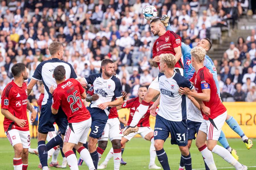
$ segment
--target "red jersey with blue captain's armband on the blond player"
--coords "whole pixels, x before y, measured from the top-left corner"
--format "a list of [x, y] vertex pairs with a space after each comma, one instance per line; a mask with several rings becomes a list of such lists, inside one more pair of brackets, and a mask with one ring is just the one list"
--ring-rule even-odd
[[194, 82], [195, 90], [197, 93], [203, 93], [203, 89], [210, 89], [210, 101], [203, 101], [205, 106], [210, 108], [210, 116], [204, 114], [201, 110], [203, 118], [209, 120], [209, 118], [214, 119], [220, 114], [227, 111], [226, 107], [221, 103], [218, 91], [216, 88], [213, 75], [206, 67], [199, 69], [199, 71], [194, 73], [193, 77], [190, 79], [191, 82]]

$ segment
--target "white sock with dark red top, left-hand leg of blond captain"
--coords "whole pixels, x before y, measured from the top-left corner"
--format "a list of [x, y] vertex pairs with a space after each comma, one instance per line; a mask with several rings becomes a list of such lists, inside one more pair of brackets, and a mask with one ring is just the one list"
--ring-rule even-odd
[[204, 145], [201, 148], [198, 148], [198, 150], [201, 152], [208, 168], [210, 170], [217, 170], [216, 165], [213, 160], [212, 152], [210, 150], [208, 150], [207, 145]]

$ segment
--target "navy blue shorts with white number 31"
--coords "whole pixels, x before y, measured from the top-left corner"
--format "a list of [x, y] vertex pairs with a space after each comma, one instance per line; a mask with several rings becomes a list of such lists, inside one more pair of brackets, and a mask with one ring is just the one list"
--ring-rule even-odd
[[186, 146], [187, 145], [187, 122], [174, 122], [156, 115], [154, 129], [154, 140], [166, 140], [171, 133], [171, 144]]

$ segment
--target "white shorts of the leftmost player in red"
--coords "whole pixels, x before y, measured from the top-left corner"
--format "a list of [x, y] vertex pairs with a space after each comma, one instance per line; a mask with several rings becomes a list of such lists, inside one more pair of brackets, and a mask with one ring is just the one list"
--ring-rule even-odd
[[11, 129], [5, 132], [9, 142], [12, 146], [17, 143], [21, 143], [23, 148], [30, 148], [30, 132], [29, 131], [21, 131], [17, 129]]

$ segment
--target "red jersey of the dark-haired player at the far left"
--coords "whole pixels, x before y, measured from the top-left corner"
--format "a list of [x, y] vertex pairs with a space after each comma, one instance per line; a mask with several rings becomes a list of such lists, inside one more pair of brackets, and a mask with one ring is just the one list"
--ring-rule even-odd
[[23, 82], [22, 87], [17, 86], [15, 82], [11, 81], [3, 90], [1, 97], [1, 109], [7, 109], [12, 115], [18, 119], [24, 119], [26, 125], [21, 128], [14, 121], [5, 117], [3, 125], [4, 130], [17, 129], [21, 131], [28, 131], [28, 116], [27, 116], [27, 85]]

